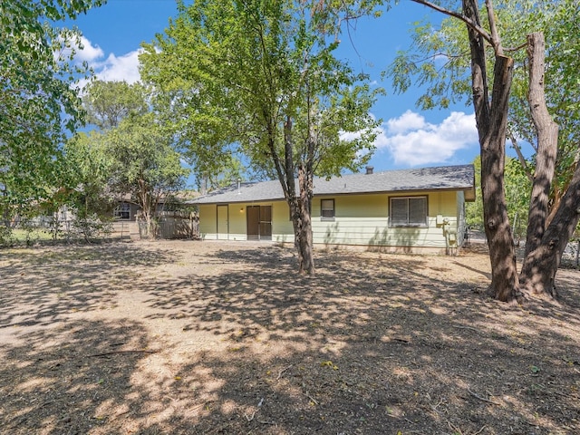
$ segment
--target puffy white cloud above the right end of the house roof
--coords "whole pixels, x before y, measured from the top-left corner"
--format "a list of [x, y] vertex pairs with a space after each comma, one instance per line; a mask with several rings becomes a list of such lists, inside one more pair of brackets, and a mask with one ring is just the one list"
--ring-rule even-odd
[[440, 124], [419, 113], [404, 112], [391, 119], [377, 137], [377, 150], [388, 150], [396, 164], [419, 166], [442, 163], [478, 142], [475, 116], [453, 111]]

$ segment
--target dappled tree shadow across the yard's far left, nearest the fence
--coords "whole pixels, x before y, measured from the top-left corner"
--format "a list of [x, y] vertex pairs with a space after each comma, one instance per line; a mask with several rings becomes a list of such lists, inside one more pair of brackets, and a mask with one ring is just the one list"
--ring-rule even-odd
[[168, 251], [124, 243], [0, 251], [0, 330], [53, 325], [71, 313], [106, 309], [134, 269], [172, 261]]

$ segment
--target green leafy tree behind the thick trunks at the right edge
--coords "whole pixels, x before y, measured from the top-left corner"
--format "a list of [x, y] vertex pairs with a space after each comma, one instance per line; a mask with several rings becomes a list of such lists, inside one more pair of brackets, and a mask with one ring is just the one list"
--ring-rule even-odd
[[[577, 86], [576, 77], [580, 64], [575, 53], [580, 49], [580, 38], [575, 37], [575, 29], [580, 25], [580, 5], [571, 0], [560, 0], [556, 4], [554, 2], [540, 4], [527, 2], [524, 5], [526, 5], [526, 14], [521, 13], [521, 5], [519, 7], [512, 3], [502, 5], [500, 19], [504, 23], [503, 27], [509, 29], [507, 44], [515, 45], [516, 37], [518, 41], [522, 41], [526, 34], [531, 34], [537, 29], [541, 29], [546, 36], [547, 67], [544, 89], [550, 115], [559, 126], [555, 176], [548, 200], [547, 223], [549, 223], [568, 189], [579, 157], [580, 111], [578, 111], [577, 102], [580, 99], [580, 89]], [[516, 32], [517, 36], [514, 35], [514, 29], [521, 29]], [[517, 64], [524, 68], [518, 68], [515, 71], [515, 86], [509, 112], [510, 140], [520, 156], [527, 177], [533, 179], [538, 148], [536, 127], [531, 120], [527, 98], [527, 70], [530, 65], [524, 50], [516, 53], [516, 56]], [[562, 89], [566, 90], [564, 95]], [[523, 146], [528, 146], [532, 150], [534, 154], [532, 164], [527, 164], [523, 160]]]

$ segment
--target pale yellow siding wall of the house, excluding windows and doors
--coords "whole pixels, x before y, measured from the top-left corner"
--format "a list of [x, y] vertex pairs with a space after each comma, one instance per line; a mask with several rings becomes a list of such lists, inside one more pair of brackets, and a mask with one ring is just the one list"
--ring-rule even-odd
[[[428, 226], [390, 227], [389, 199], [410, 196], [427, 197]], [[321, 199], [334, 200], [334, 218], [321, 217]], [[228, 240], [247, 240], [246, 208], [250, 205], [272, 206], [272, 240], [294, 243], [294, 228], [285, 201], [228, 205]], [[460, 223], [461, 210], [463, 194], [455, 191], [315, 197], [312, 204], [314, 244], [324, 247], [376, 247], [403, 252], [430, 248], [445, 252], [448, 248], [448, 228], [457, 231], [455, 243], [460, 246], [462, 238], [459, 239], [459, 230], [463, 228]], [[218, 239], [217, 227], [217, 206], [199, 206], [200, 236], [209, 240]]]

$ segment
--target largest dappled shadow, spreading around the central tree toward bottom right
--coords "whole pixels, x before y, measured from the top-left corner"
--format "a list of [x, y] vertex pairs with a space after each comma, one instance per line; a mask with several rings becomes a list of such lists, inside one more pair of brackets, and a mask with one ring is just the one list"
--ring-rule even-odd
[[[580, 328], [575, 303], [508, 307], [484, 295], [485, 280], [455, 281], [445, 265], [440, 279], [426, 279], [420, 256], [324, 253], [315, 277], [294, 275], [293, 256], [278, 248], [216, 256], [253, 267], [190, 276], [158, 286], [147, 300], [152, 318], [177, 316], [192, 336], [227, 337], [223, 349], [205, 352], [186, 372], [211, 370], [224, 383], [217, 402], [229, 402], [237, 420], [224, 421], [216, 405], [199, 433], [219, 421], [227, 430], [260, 433], [577, 427], [572, 360], [580, 349], [546, 322], [560, 317]], [[285, 367], [285, 387], [276, 387], [269, 381]], [[280, 391], [294, 392], [281, 400]], [[256, 408], [264, 397], [278, 403], [275, 411]], [[240, 410], [246, 420], [254, 411], [262, 419], [239, 426], [246, 424]]]

